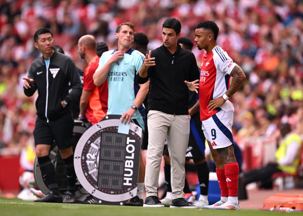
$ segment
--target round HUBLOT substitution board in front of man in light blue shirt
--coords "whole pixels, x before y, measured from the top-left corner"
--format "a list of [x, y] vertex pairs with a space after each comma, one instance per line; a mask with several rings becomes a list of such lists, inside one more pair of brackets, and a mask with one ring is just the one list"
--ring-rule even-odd
[[75, 149], [78, 180], [102, 205], [124, 205], [137, 195], [143, 130], [131, 122], [126, 133], [118, 133], [120, 118], [106, 115], [85, 131]]

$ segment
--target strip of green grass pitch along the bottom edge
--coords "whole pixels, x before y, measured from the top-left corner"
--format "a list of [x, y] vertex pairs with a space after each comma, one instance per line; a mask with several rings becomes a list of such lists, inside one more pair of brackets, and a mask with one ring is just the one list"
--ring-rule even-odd
[[[241, 207], [241, 204], [240, 204]], [[35, 203], [20, 199], [7, 199], [0, 197], [1, 216], [255, 216], [255, 215], [281, 215], [284, 212], [260, 211], [257, 209], [241, 209], [240, 211], [184, 209], [184, 208], [143, 208], [115, 205], [83, 205], [59, 203]], [[290, 214], [303, 215], [300, 212]]]

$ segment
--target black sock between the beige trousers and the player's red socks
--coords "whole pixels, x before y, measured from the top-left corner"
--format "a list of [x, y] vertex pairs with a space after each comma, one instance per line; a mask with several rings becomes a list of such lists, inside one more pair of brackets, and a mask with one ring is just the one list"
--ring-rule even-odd
[[209, 168], [207, 162], [196, 165], [197, 174], [200, 183], [200, 194], [208, 195], [208, 185], [209, 185]]

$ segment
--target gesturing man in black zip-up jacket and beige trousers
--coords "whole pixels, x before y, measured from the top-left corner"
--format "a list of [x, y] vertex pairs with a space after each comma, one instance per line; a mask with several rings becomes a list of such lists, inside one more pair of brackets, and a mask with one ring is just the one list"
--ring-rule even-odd
[[[185, 154], [188, 146], [188, 87], [196, 91], [199, 79], [193, 53], [181, 48], [178, 38], [181, 23], [168, 18], [162, 24], [163, 45], [149, 50], [140, 68], [137, 81], [150, 80], [148, 95], [148, 149], [145, 172], [144, 207], [163, 207], [158, 200], [158, 179], [165, 139], [171, 159], [171, 208], [197, 208], [184, 199]], [[189, 81], [185, 84], [185, 81]]]

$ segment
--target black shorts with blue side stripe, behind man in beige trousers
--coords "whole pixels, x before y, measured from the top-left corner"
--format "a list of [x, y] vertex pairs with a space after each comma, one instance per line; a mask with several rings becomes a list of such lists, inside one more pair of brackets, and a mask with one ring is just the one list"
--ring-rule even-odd
[[[205, 159], [205, 136], [202, 131], [202, 122], [199, 114], [195, 114], [190, 120], [190, 132], [188, 139], [188, 147], [185, 155], [186, 160]], [[169, 156], [167, 145], [164, 146], [163, 155]]]

